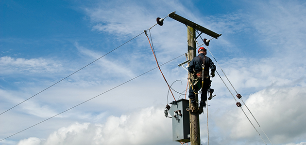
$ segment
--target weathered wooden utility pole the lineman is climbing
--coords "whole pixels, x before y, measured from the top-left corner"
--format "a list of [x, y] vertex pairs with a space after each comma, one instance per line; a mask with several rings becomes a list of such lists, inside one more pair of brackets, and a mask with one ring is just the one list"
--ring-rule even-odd
[[[187, 26], [187, 38], [188, 38], [188, 58], [191, 61], [194, 57], [197, 56], [196, 43], [194, 41], [195, 29]], [[188, 74], [188, 78], [191, 78], [191, 74]], [[190, 85], [189, 85], [190, 87]], [[191, 88], [189, 88], [191, 89]], [[199, 101], [198, 95], [195, 96], [196, 102]], [[198, 105], [198, 103], [196, 103]], [[191, 106], [191, 102], [189, 100], [189, 106]], [[190, 143], [191, 145], [200, 145], [200, 120], [199, 114], [197, 112], [189, 112], [190, 114]]]

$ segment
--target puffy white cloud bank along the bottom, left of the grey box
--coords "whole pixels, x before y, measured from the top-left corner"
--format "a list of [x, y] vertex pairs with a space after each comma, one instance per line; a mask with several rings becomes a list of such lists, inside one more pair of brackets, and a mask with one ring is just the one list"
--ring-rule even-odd
[[130, 115], [109, 116], [103, 124], [73, 123], [54, 131], [47, 139], [30, 137], [17, 145], [167, 144], [171, 142], [170, 124], [171, 119], [165, 118], [163, 108], [149, 107]]

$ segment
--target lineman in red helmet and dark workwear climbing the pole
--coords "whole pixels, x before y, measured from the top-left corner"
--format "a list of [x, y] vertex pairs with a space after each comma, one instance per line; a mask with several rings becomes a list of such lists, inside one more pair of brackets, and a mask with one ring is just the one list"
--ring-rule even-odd
[[[215, 76], [216, 66], [212, 60], [206, 57], [207, 51], [204, 47], [200, 47], [198, 50], [198, 57], [193, 58], [190, 61], [188, 72], [192, 74], [189, 88], [188, 98], [190, 99], [191, 106], [187, 107], [189, 112], [198, 112], [198, 114], [203, 113], [203, 107], [206, 106], [207, 92], [210, 87], [210, 75], [211, 77]], [[211, 73], [209, 75], [209, 68]], [[198, 102], [196, 102], [195, 94], [198, 94], [198, 91], [201, 90], [201, 101], [200, 106], [198, 107]]]

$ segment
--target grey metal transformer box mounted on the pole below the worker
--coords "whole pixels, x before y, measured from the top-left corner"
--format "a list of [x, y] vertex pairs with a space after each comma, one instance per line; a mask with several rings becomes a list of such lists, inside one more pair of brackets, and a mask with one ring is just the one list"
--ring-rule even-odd
[[169, 114], [172, 116], [172, 138], [173, 141], [190, 142], [189, 112], [186, 108], [189, 101], [181, 99], [171, 103]]

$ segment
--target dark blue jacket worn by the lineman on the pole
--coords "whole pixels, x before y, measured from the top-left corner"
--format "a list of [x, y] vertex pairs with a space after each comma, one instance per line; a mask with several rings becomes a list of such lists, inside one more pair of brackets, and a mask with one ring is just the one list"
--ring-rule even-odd
[[[202, 57], [201, 58], [199, 57]], [[204, 56], [203, 53], [200, 53], [197, 57], [194, 57], [189, 64], [188, 67], [188, 72], [189, 73], [199, 73], [202, 72], [202, 64], [203, 64], [203, 58], [205, 57], [205, 66], [204, 66], [204, 71], [209, 71], [209, 68], [211, 69], [211, 72], [216, 71], [216, 66], [212, 60], [206, 56]]]

